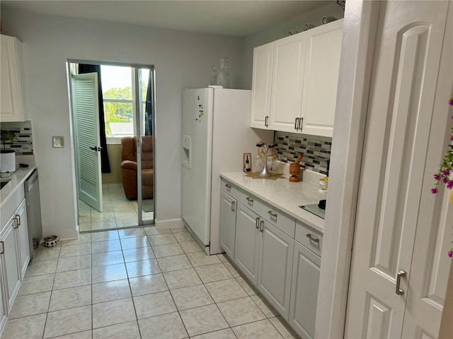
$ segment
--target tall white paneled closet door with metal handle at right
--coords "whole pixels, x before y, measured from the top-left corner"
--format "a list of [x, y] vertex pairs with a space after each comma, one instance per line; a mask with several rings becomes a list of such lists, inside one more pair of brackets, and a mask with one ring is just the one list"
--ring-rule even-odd
[[[441, 266], [435, 256], [446, 255], [441, 253], [440, 243], [447, 227], [442, 225], [445, 218], [441, 220], [437, 213], [447, 201], [440, 196], [435, 201], [430, 187], [434, 184], [433, 169], [445, 152], [442, 148], [449, 129], [451, 78], [442, 83], [443, 88], [449, 88], [440, 89], [445, 96], [443, 104], [435, 105], [442, 100], [435, 91], [442, 88], [437, 77], [445, 71], [439, 68], [447, 6], [447, 1], [381, 4], [357, 201], [346, 338], [406, 336], [403, 321], [414, 316], [409, 300], [418, 299], [414, 304], [420, 304], [423, 298], [431, 305], [425, 308], [424, 319], [414, 319], [417, 334], [408, 337], [437, 335], [437, 315], [445, 295], [441, 286], [448, 273], [447, 269], [437, 270]], [[451, 60], [445, 62], [451, 64]], [[451, 227], [451, 222], [447, 224]], [[415, 252], [419, 253], [413, 257], [415, 234], [420, 232], [427, 235], [423, 240], [427, 246], [417, 246]], [[413, 260], [416, 257], [423, 260]], [[413, 288], [416, 280], [423, 281], [421, 290]]]

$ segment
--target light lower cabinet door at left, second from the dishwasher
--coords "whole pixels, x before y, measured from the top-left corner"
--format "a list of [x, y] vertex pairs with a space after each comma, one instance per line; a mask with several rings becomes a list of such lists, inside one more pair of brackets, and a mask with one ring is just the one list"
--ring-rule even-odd
[[4, 282], [6, 304], [8, 311], [13, 306], [14, 299], [21, 285], [20, 263], [18, 261], [18, 251], [16, 242], [16, 232], [14, 232], [14, 225], [16, 219], [11, 218], [6, 224], [0, 239], [0, 249], [4, 251], [1, 254], [1, 264], [4, 269]]

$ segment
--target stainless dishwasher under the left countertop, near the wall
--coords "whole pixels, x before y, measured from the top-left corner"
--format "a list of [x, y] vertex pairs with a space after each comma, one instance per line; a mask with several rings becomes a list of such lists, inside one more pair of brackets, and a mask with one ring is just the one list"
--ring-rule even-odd
[[38, 169], [35, 169], [25, 181], [25, 201], [27, 204], [28, 238], [30, 239], [31, 261], [31, 259], [33, 259], [33, 248], [38, 248], [42, 236]]

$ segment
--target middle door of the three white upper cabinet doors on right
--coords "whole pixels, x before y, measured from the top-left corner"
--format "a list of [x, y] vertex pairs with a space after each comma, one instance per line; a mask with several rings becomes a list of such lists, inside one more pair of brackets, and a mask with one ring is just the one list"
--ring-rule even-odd
[[[302, 108], [305, 34], [296, 34], [274, 42], [270, 129], [297, 132]], [[301, 121], [302, 122], [302, 121]]]

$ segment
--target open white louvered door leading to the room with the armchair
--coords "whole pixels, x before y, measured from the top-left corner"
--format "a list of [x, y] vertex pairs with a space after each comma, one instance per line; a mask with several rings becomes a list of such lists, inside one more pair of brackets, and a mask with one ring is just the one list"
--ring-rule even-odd
[[79, 198], [102, 212], [97, 73], [71, 75]]

